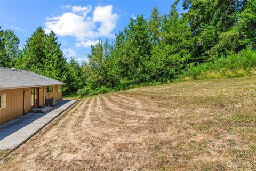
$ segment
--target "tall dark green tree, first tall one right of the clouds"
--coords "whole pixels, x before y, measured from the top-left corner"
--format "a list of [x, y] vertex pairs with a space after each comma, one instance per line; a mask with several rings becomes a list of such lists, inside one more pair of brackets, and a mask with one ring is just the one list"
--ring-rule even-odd
[[124, 56], [122, 61], [122, 77], [127, 82], [138, 84], [149, 81], [152, 40], [148, 23], [143, 15], [131, 19], [124, 30], [126, 35]]

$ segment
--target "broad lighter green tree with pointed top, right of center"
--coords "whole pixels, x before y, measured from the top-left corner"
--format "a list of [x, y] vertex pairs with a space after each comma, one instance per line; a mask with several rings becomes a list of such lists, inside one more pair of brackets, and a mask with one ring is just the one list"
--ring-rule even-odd
[[169, 80], [179, 74], [187, 64], [193, 62], [192, 34], [188, 20], [180, 17], [175, 5], [164, 15], [161, 28], [161, 42], [153, 48], [154, 77]]

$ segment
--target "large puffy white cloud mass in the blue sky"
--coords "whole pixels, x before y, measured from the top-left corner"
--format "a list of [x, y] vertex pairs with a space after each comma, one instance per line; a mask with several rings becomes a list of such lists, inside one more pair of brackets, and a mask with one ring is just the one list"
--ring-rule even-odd
[[[112, 33], [116, 27], [118, 15], [113, 13], [112, 5], [92, 7], [87, 6], [61, 6], [71, 12], [62, 15], [47, 17], [45, 31], [53, 30], [59, 36], [76, 37], [76, 47], [90, 47], [95, 45], [99, 37], [114, 37]], [[90, 14], [90, 15], [89, 15]]]

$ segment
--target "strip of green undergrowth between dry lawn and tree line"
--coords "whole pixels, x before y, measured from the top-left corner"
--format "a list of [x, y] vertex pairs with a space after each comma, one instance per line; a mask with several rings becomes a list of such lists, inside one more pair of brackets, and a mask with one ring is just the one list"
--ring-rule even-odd
[[222, 56], [210, 62], [199, 63], [196, 66], [187, 68], [182, 74], [177, 75], [174, 79], [161, 82], [145, 82], [141, 84], [130, 85], [119, 88], [107, 88], [101, 86], [97, 89], [84, 87], [79, 89], [78, 95], [73, 94], [65, 97], [84, 97], [97, 94], [121, 91], [124, 89], [132, 89], [143, 86], [161, 85], [171, 82], [180, 82], [184, 80], [202, 80], [216, 78], [235, 78], [256, 76], [256, 51], [251, 49], [242, 50], [234, 54], [230, 53], [227, 56]]

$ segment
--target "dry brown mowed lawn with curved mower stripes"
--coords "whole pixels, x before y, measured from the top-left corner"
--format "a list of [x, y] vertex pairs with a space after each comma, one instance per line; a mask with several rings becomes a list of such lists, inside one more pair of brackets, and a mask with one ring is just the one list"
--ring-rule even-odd
[[0, 170], [256, 170], [256, 78], [87, 97]]

